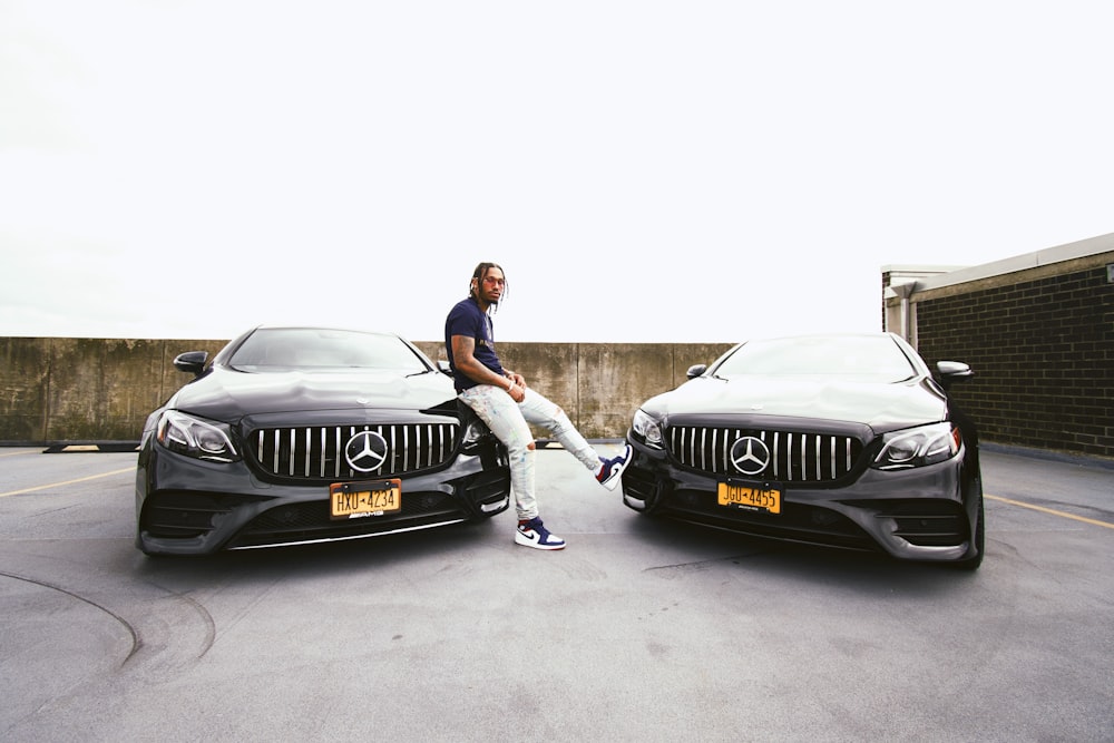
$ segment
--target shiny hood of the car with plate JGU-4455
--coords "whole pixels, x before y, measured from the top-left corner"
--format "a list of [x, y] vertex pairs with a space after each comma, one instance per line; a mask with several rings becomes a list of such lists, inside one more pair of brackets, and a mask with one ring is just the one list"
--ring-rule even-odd
[[842, 421], [869, 426], [876, 433], [882, 433], [944, 420], [947, 399], [929, 379], [881, 383], [701, 377], [653, 398], [643, 409], [666, 419], [739, 416]]

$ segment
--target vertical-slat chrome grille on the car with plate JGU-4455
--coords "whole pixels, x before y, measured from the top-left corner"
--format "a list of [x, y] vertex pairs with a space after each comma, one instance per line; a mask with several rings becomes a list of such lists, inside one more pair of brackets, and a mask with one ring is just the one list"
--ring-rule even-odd
[[761, 439], [771, 462], [761, 477], [784, 482], [830, 482], [854, 468], [862, 442], [854, 437], [739, 428], [675, 426], [670, 428], [670, 456], [682, 467], [709, 475], [740, 475], [731, 463], [731, 447], [743, 437]]

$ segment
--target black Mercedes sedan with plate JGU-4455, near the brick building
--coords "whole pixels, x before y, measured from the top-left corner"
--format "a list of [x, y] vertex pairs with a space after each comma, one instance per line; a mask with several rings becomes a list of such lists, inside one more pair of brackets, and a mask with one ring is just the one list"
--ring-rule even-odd
[[627, 433], [636, 511], [763, 538], [977, 568], [978, 433], [891, 333], [740, 343], [646, 401]]

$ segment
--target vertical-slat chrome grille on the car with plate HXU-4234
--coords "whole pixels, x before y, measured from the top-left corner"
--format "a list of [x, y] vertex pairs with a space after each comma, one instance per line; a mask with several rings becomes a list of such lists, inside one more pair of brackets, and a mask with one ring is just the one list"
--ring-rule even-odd
[[[333, 481], [399, 477], [449, 461], [457, 448], [458, 429], [455, 423], [258, 429], [250, 438], [251, 453], [264, 471], [283, 478]], [[344, 457], [344, 446], [360, 431], [375, 431], [388, 444], [387, 460], [371, 472], [352, 469]]]

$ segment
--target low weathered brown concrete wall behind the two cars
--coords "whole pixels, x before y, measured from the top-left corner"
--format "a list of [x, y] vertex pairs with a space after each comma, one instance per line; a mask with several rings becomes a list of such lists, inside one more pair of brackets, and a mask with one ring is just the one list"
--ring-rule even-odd
[[[147, 414], [189, 380], [174, 358], [185, 351], [212, 355], [226, 342], [0, 339], [0, 443], [137, 441]], [[441, 343], [416, 345], [433, 360], [444, 358]], [[639, 403], [729, 348], [504, 342], [499, 354], [563, 405], [587, 438], [617, 439]]]

